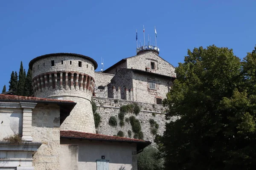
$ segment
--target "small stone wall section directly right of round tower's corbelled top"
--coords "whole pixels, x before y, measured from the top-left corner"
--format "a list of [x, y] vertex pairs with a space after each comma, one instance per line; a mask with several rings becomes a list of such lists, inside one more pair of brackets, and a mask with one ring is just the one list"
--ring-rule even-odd
[[95, 96], [108, 97], [108, 84], [111, 82], [111, 79], [113, 77], [114, 77], [113, 74], [95, 72], [95, 84], [94, 84]]

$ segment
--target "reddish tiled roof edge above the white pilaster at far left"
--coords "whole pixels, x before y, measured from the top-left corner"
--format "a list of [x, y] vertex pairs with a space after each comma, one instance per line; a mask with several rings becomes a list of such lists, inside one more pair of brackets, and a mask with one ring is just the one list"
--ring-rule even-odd
[[0, 100], [24, 100], [24, 101], [35, 101], [35, 102], [70, 102], [74, 103], [73, 101], [68, 100], [57, 100], [57, 99], [44, 99], [38, 97], [26, 97], [26, 96], [13, 96], [13, 95], [5, 95], [0, 94]]

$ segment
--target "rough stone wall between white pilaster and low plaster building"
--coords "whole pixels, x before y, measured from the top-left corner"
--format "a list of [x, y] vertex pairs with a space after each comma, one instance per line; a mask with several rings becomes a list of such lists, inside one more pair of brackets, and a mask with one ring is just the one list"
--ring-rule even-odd
[[60, 108], [38, 104], [32, 112], [33, 142], [42, 142], [33, 156], [35, 170], [59, 170]]

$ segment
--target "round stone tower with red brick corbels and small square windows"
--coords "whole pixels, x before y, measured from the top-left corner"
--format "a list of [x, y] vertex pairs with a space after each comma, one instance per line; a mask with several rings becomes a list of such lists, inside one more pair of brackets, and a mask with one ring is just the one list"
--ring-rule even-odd
[[96, 133], [91, 96], [97, 62], [71, 53], [46, 54], [29, 62], [36, 97], [76, 102], [61, 130]]

